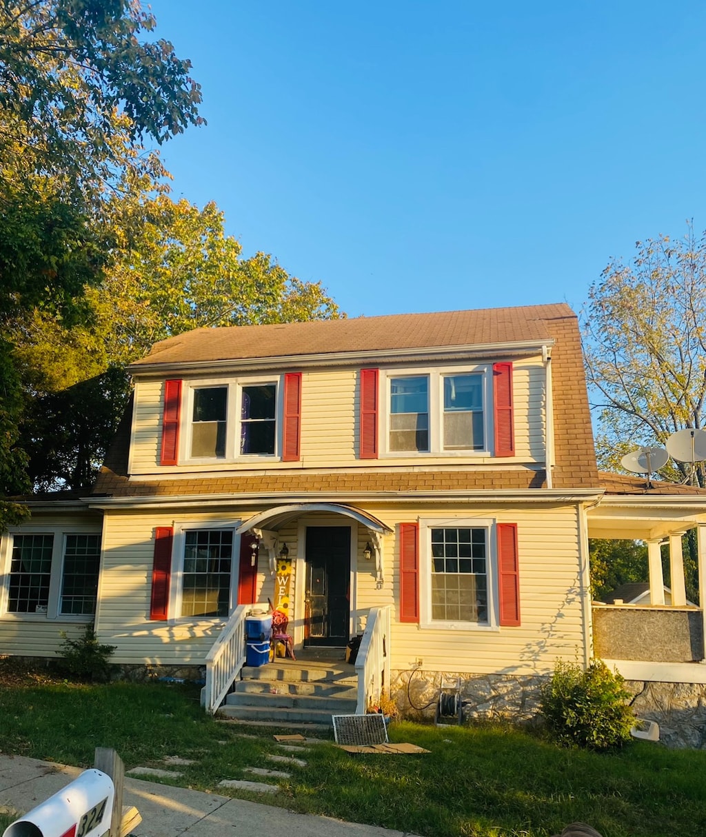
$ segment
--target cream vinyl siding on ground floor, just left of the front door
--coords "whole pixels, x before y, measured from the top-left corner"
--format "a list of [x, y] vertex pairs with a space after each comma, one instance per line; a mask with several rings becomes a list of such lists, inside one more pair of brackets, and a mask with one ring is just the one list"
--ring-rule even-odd
[[[203, 665], [211, 646], [218, 638], [225, 619], [152, 621], [149, 619], [152, 594], [154, 530], [157, 526], [188, 525], [190, 528], [229, 528], [250, 517], [252, 511], [233, 515], [180, 514], [154, 512], [106, 515], [104, 559], [100, 576], [96, 630], [103, 642], [116, 645], [111, 657], [115, 663], [162, 665]], [[233, 583], [237, 591], [240, 540], [233, 544]], [[263, 589], [271, 578], [265, 550], [260, 550], [258, 593], [267, 607]], [[174, 573], [171, 583], [174, 583]], [[234, 596], [237, 593], [234, 593]], [[170, 614], [171, 616], [171, 614]]]

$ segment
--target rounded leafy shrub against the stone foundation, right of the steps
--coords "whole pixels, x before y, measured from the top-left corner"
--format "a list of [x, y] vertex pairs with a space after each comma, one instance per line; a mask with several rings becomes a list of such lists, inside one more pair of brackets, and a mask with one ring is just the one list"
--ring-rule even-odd
[[563, 744], [592, 750], [621, 747], [630, 741], [635, 723], [623, 683], [601, 660], [593, 660], [585, 671], [559, 661], [540, 697], [549, 731]]

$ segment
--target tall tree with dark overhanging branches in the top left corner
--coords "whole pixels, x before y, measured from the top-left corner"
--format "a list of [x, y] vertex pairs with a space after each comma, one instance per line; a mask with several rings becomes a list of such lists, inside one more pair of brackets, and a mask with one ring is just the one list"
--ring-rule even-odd
[[[164, 172], [143, 141], [198, 124], [201, 94], [137, 0], [0, 0], [0, 497], [30, 483], [16, 352], [34, 313], [84, 321], [110, 198]], [[22, 516], [0, 500], [0, 530]]]

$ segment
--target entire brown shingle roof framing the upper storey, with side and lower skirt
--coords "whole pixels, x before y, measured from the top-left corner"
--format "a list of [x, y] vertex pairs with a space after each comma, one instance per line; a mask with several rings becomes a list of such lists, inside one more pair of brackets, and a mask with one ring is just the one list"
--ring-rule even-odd
[[[554, 339], [552, 381], [554, 390], [554, 487], [596, 488], [590, 411], [585, 387], [579, 326], [569, 306], [495, 308], [482, 311], [450, 311], [435, 314], [402, 314], [289, 323], [277, 326], [235, 326], [197, 329], [157, 343], [151, 354], [134, 364], [188, 363], [232, 360], [237, 357], [280, 357], [307, 353], [369, 351], [415, 347], [473, 346], [503, 342]], [[489, 357], [488, 360], [492, 360]], [[106, 468], [95, 485], [96, 493], [116, 496], [148, 496], [194, 493], [245, 493], [278, 490], [307, 491], [410, 491], [492, 488], [541, 488], [544, 472], [532, 471], [439, 471], [425, 473], [417, 465], [412, 473], [350, 473], [317, 475], [306, 470], [258, 477], [234, 472], [210, 478], [155, 479], [131, 483], [127, 478], [129, 422], [123, 424], [117, 444], [106, 458]], [[374, 467], [371, 462], [370, 465]]]

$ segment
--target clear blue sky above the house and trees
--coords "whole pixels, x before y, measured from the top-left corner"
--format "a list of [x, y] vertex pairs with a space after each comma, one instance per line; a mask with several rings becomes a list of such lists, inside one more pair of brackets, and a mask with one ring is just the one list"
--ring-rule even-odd
[[578, 309], [706, 226], [706, 3], [153, 0], [208, 126], [173, 194], [349, 316]]

